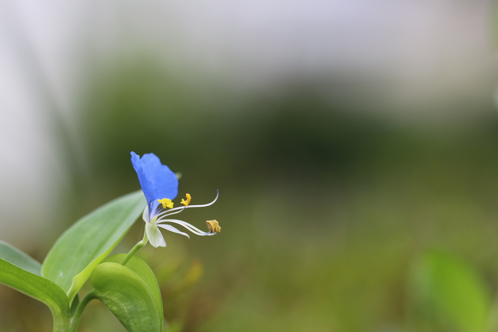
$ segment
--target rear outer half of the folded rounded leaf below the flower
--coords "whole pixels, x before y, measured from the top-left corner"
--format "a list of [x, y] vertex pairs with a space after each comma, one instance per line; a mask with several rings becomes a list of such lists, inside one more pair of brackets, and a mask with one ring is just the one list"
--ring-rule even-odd
[[[126, 256], [126, 254], [113, 255], [106, 258], [104, 262], [120, 263], [123, 260], [124, 256]], [[124, 264], [124, 266], [136, 273], [136, 275], [144, 282], [145, 286], [147, 286], [148, 290], [152, 294], [161, 321], [161, 327], [159, 331], [162, 331], [163, 309], [161, 290], [159, 289], [159, 284], [157, 283], [154, 273], [147, 265], [147, 263], [136, 256], [132, 256], [130, 260], [126, 264]]]

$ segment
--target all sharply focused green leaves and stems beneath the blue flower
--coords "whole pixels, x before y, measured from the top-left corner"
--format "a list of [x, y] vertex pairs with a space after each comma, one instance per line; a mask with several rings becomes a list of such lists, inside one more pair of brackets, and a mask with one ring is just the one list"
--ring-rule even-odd
[[[46, 304], [54, 316], [54, 331], [69, 331], [70, 325], [76, 329], [81, 312], [92, 298], [80, 304], [78, 290], [123, 238], [144, 205], [140, 190], [96, 209], [61, 235], [43, 265], [0, 242], [0, 282]], [[115, 255], [108, 262], [124, 256]], [[96, 296], [128, 331], [162, 330], [161, 294], [152, 271], [135, 257], [126, 266], [106, 263], [98, 268], [92, 277]]]

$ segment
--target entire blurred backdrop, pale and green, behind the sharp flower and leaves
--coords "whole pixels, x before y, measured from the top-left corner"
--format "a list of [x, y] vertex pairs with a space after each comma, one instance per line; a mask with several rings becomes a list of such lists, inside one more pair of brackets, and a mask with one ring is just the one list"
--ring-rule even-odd
[[[130, 151], [153, 152], [181, 195], [220, 190], [182, 215], [220, 234], [139, 252], [165, 331], [481, 331], [475, 303], [495, 317], [498, 285], [496, 5], [1, 0], [0, 240], [42, 261], [139, 188]], [[0, 285], [0, 331], [51, 324]], [[94, 301], [79, 331], [124, 328]]]

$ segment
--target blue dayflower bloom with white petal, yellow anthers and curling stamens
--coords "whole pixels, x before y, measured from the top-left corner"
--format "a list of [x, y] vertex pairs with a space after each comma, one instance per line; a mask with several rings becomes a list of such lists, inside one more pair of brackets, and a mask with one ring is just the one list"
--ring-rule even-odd
[[[176, 229], [168, 223], [181, 225], [197, 235], [214, 235], [220, 232], [221, 228], [216, 220], [206, 221], [209, 231], [203, 232], [188, 222], [177, 219], [165, 219], [172, 214], [182, 212], [185, 208], [209, 206], [216, 202], [219, 193], [216, 194], [216, 198], [211, 203], [202, 205], [189, 205], [192, 197], [189, 194], [186, 194], [187, 200], [182, 199], [181, 201], [184, 206], [173, 208], [172, 200], [175, 199], [178, 194], [178, 179], [176, 178], [175, 173], [173, 173], [168, 166], [162, 165], [159, 158], [154, 154], [145, 154], [140, 158], [140, 156], [132, 152], [131, 164], [133, 164], [133, 168], [138, 175], [138, 181], [140, 182], [143, 194], [145, 195], [145, 200], [147, 201], [147, 206], [143, 210], [142, 218], [143, 221], [145, 221], [147, 238], [152, 246], [166, 246], [166, 241], [164, 240], [159, 227], [190, 238], [187, 233]], [[169, 209], [166, 210], [166, 208]]]

